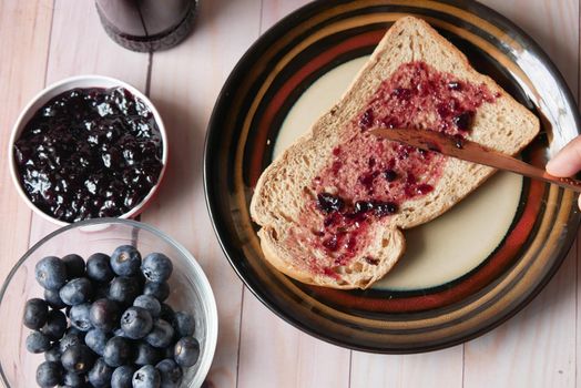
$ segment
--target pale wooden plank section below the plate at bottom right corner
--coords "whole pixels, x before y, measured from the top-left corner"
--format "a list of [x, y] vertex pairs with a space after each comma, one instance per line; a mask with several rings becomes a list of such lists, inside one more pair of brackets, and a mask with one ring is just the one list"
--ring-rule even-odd
[[467, 387], [575, 386], [575, 254], [521, 313], [465, 345]]

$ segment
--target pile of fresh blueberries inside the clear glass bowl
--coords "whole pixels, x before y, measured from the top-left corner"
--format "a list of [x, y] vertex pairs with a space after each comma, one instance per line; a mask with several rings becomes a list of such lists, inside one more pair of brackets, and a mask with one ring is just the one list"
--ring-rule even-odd
[[[44, 298], [29, 299], [27, 349], [44, 353], [41, 387], [180, 387], [200, 344], [191, 314], [164, 303], [173, 265], [131, 245], [111, 256], [48, 256], [35, 266]], [[64, 309], [65, 313], [62, 310]]]

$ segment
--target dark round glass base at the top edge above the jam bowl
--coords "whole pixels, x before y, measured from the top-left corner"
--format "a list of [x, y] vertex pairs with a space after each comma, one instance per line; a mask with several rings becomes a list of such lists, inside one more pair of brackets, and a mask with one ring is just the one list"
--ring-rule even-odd
[[170, 49], [194, 27], [196, 0], [95, 0], [108, 35], [125, 49]]

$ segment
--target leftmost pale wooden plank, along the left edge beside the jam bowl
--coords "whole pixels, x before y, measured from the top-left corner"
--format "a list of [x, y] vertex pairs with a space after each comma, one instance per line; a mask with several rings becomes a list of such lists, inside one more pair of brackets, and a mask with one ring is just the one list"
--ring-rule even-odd
[[[52, 1], [0, 1], [0, 279], [28, 248], [31, 212], [8, 169], [9, 137], [20, 111], [44, 85]], [[1, 344], [0, 344], [1, 346]]]

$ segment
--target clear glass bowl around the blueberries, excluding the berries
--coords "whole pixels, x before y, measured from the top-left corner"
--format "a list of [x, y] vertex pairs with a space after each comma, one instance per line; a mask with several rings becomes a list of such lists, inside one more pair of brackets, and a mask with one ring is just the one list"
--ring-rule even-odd
[[22, 325], [24, 303], [43, 296], [34, 278], [35, 264], [45, 256], [62, 257], [75, 253], [83, 258], [102, 252], [111, 254], [123, 244], [137, 247], [142, 256], [161, 252], [173, 262], [166, 303], [174, 310], [195, 317], [200, 359], [184, 370], [182, 387], [200, 387], [210, 369], [217, 339], [217, 310], [210, 283], [195, 258], [175, 241], [156, 228], [129, 219], [99, 218], [82, 221], [58, 229], [31, 247], [12, 268], [0, 290], [0, 378], [4, 386], [37, 387], [35, 370], [43, 354], [30, 354], [26, 338], [31, 331]]

